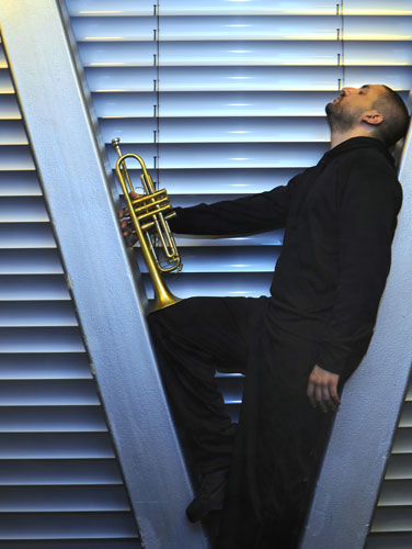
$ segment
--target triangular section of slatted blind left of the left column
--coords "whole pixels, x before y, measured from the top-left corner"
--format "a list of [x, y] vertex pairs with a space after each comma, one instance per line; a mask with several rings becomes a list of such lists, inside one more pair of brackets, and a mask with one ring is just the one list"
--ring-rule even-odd
[[0, 43], [0, 548], [138, 549]]

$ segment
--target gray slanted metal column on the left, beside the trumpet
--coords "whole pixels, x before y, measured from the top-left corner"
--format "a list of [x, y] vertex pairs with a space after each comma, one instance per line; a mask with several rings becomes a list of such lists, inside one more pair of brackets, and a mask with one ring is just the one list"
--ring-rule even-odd
[[201, 527], [185, 518], [192, 490], [67, 24], [57, 0], [0, 1], [28, 138], [145, 547], [206, 548]]

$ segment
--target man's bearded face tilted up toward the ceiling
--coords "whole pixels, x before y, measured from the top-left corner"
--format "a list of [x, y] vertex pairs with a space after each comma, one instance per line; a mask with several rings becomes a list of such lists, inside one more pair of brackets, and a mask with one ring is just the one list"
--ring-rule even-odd
[[327, 115], [333, 130], [347, 131], [360, 123], [365, 112], [374, 108], [384, 86], [367, 83], [362, 88], [343, 88], [341, 94], [327, 104]]

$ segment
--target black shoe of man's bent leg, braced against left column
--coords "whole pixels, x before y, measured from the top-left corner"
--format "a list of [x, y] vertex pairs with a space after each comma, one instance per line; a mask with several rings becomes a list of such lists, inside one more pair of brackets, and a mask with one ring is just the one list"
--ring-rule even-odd
[[227, 469], [203, 475], [199, 493], [186, 508], [191, 523], [202, 520], [210, 511], [219, 511], [224, 507], [227, 483]]

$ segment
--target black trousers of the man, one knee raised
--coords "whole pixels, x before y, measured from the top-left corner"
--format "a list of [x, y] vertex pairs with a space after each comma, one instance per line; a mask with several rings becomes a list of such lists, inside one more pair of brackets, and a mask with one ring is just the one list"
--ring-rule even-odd
[[[298, 547], [333, 421], [306, 391], [316, 341], [268, 298], [192, 298], [149, 315], [165, 391], [199, 472], [230, 466], [219, 549]], [[216, 370], [245, 373], [239, 426]]]

